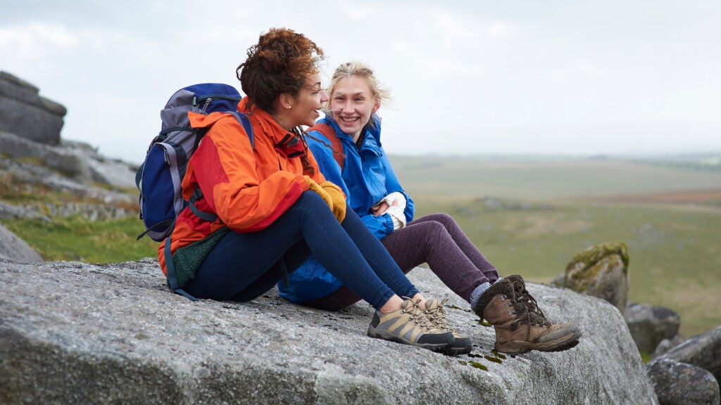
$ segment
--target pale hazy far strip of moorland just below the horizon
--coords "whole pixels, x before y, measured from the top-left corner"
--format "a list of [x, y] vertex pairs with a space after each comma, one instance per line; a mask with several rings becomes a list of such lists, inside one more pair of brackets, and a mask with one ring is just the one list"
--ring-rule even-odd
[[402, 184], [429, 198], [557, 200], [678, 190], [721, 190], [721, 172], [622, 160], [508, 161], [393, 156]]

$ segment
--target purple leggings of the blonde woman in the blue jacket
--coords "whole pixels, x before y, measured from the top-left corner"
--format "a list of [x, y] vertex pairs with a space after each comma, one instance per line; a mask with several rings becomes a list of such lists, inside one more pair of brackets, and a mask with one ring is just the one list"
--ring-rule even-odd
[[[473, 290], [484, 282], [493, 284], [498, 272], [476, 246], [469, 241], [456, 221], [446, 213], [426, 215], [381, 239], [388, 252], [404, 273], [423, 263], [466, 301]], [[305, 306], [340, 311], [361, 301], [361, 297], [342, 286]]]

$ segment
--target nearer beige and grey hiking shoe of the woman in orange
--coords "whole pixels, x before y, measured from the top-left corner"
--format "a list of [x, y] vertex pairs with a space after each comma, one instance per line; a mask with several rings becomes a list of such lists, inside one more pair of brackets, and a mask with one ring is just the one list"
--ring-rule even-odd
[[423, 310], [410, 298], [406, 298], [401, 308], [392, 313], [376, 311], [368, 336], [390, 340], [438, 352], [446, 350], [454, 342], [453, 334], [433, 328], [423, 315]]

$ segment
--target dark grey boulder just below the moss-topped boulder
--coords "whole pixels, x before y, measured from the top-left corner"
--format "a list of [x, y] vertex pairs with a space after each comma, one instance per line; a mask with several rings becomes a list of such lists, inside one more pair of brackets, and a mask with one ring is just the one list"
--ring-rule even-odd
[[646, 353], [655, 352], [663, 339], [676, 337], [681, 327], [681, 316], [662, 306], [629, 303], [624, 317], [638, 350]]

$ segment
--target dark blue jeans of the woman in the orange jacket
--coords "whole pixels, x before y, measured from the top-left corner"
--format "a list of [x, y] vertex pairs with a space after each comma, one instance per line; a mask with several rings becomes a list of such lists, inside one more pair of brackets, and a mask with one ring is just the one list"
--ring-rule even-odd
[[293, 272], [311, 254], [373, 308], [380, 309], [394, 294], [418, 293], [353, 210], [348, 208], [338, 223], [315, 192], [304, 192], [261, 231], [229, 232], [205, 257], [185, 290], [198, 298], [249, 301], [282, 280], [283, 267]]

